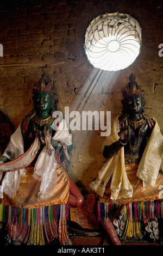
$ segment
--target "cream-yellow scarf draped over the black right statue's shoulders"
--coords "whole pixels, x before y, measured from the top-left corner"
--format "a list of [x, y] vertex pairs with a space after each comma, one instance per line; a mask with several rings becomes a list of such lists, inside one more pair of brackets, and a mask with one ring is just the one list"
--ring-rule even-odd
[[[154, 186], [161, 165], [163, 153], [163, 136], [160, 132], [158, 123], [155, 121], [152, 134], [149, 138], [145, 152], [143, 153], [137, 176], [143, 180], [143, 186]], [[118, 117], [114, 120], [111, 129], [112, 135], [109, 136], [109, 144], [118, 141], [118, 131], [120, 130]], [[111, 178], [110, 199], [128, 198], [133, 196], [133, 187], [128, 180], [124, 165], [124, 148], [112, 156], [98, 172], [98, 177], [90, 183], [90, 187], [99, 196], [103, 197], [106, 184]]]

